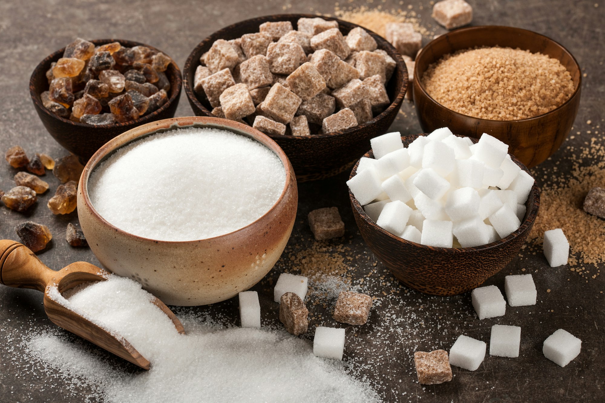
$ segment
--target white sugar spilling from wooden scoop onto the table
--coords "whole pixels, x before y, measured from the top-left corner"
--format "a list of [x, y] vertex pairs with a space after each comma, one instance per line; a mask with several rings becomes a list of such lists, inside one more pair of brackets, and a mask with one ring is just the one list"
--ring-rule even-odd
[[187, 334], [179, 335], [165, 315], [157, 317], [163, 313], [150, 298], [139, 283], [110, 276], [61, 301], [125, 335], [151, 361], [148, 372], [126, 374], [54, 335], [34, 336], [28, 349], [61, 373], [83, 379], [107, 402], [379, 400], [343, 363], [315, 357], [309, 341], [283, 329], [220, 329], [198, 322], [184, 323]]

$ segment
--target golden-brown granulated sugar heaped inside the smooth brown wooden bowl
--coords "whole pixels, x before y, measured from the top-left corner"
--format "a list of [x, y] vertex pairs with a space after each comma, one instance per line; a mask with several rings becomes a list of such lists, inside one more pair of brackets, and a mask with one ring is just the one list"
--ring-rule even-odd
[[422, 84], [447, 108], [490, 120], [538, 116], [575, 90], [571, 74], [557, 59], [502, 47], [446, 54], [428, 67]]

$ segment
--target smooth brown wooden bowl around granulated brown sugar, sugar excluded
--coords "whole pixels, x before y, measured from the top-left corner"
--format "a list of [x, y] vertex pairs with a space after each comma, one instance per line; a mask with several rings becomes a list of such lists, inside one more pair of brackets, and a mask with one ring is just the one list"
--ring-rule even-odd
[[[430, 64], [443, 55], [476, 46], [502, 46], [540, 52], [554, 57], [571, 74], [572, 96], [554, 110], [528, 119], [488, 120], [466, 116], [440, 105], [420, 83]], [[428, 133], [447, 126], [454, 133], [479, 138], [488, 133], [509, 145], [511, 154], [531, 168], [546, 160], [561, 146], [574, 124], [580, 105], [582, 74], [578, 62], [566, 48], [544, 35], [514, 27], [470, 27], [450, 31], [431, 41], [416, 58], [414, 103], [420, 126]]]

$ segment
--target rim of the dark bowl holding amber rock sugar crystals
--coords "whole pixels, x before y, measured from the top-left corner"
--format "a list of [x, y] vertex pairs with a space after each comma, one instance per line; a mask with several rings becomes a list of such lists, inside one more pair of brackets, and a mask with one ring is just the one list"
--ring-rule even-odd
[[[143, 44], [142, 42], [130, 41], [129, 39], [116, 39], [116, 38], [91, 39], [89, 42], [93, 42], [94, 45], [110, 44], [111, 42], [120, 42], [120, 44], [122, 44], [123, 42], [129, 42], [129, 44], [131, 44], [131, 47], [132, 46], [145, 46], [145, 47], [151, 48], [153, 50], [157, 50], [158, 52], [164, 53], [163, 51], [159, 50], [156, 47], [153, 47], [153, 46], [147, 45], [147, 44]], [[42, 100], [40, 99], [40, 94], [38, 94], [36, 91], [35, 82], [36, 82], [36, 79], [41, 74], [46, 73], [46, 71], [44, 71], [44, 67], [43, 67], [44, 64], [46, 64], [48, 61], [51, 61], [51, 62], [54, 61], [55, 59], [57, 59], [57, 57], [60, 59], [60, 57], [62, 57], [62, 54], [64, 53], [66, 47], [60, 48], [59, 50], [54, 51], [53, 53], [49, 54], [47, 57], [42, 59], [42, 61], [39, 62], [38, 65], [36, 65], [36, 68], [34, 68], [34, 70], [31, 72], [31, 76], [30, 76], [30, 96], [31, 96], [31, 99], [33, 100], [34, 104], [36, 106], [38, 106], [40, 110], [44, 111], [45, 114], [53, 117], [54, 119], [59, 120], [60, 122], [69, 123], [70, 125], [73, 125], [76, 127], [99, 128], [99, 129], [121, 128], [121, 127], [126, 128], [127, 126], [132, 125], [133, 123], [136, 125], [141, 125], [143, 123], [147, 123], [149, 120], [154, 119], [155, 117], [157, 117], [157, 115], [159, 115], [160, 113], [162, 113], [163, 111], [168, 109], [169, 105], [171, 105], [171, 103], [174, 102], [174, 100], [180, 96], [181, 87], [183, 86], [183, 74], [181, 73], [181, 70], [178, 67], [177, 62], [175, 62], [174, 59], [172, 59], [172, 57], [171, 57], [171, 59], [172, 59], [171, 65], [174, 66], [174, 69], [175, 69], [174, 75], [175, 75], [175, 81], [176, 81], [177, 85], [175, 85], [174, 87], [176, 87], [176, 89], [175, 89], [175, 91], [172, 91], [172, 96], [170, 96], [168, 98], [168, 100], [166, 100], [166, 103], [164, 103], [164, 105], [160, 106], [160, 108], [153, 111], [152, 113], [150, 113], [148, 115], [140, 116], [139, 119], [128, 120], [128, 122], [121, 122], [121, 123], [118, 123], [118, 122], [110, 123], [108, 125], [90, 125], [88, 123], [74, 122], [73, 120], [69, 120], [69, 119], [65, 119], [64, 117], [57, 116], [56, 114], [47, 110], [47, 108], [45, 108], [44, 105], [42, 105]], [[166, 54], [166, 53], [164, 53], [164, 54]], [[169, 56], [169, 55], [166, 54], [166, 56]], [[171, 90], [172, 90], [172, 88], [171, 88]]]

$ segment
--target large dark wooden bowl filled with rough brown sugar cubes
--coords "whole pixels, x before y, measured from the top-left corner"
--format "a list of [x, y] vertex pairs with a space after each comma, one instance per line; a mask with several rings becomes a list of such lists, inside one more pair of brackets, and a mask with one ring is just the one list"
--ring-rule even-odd
[[271, 15], [223, 28], [195, 47], [185, 93], [198, 116], [267, 134], [306, 181], [350, 169], [370, 138], [387, 131], [407, 77], [401, 55], [358, 25]]

